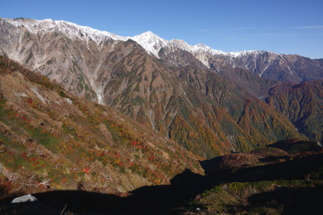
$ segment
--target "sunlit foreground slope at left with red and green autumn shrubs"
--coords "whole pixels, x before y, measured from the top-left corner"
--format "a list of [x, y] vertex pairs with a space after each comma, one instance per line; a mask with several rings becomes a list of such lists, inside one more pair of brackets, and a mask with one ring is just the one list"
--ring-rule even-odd
[[120, 193], [168, 184], [194, 156], [112, 108], [79, 99], [0, 57], [2, 197], [47, 190]]

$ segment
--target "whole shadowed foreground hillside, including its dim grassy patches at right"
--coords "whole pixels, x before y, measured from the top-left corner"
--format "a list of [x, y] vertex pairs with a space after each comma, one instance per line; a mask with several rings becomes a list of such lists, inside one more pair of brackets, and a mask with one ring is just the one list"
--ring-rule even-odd
[[[264, 155], [267, 149], [248, 154], [257, 159], [233, 154], [228, 156], [242, 157], [239, 161], [228, 156], [203, 161], [201, 165], [207, 175], [185, 170], [176, 175], [170, 185], [144, 186], [119, 195], [50, 191], [34, 194], [38, 198], [35, 203], [8, 205], [3, 201], [1, 209], [5, 212], [15, 209], [17, 213], [27, 209], [35, 214], [40, 211], [55, 214], [63, 208], [65, 212], [77, 214], [301, 214], [306, 211], [306, 205], [310, 204], [312, 207], [308, 211], [319, 214], [322, 211], [319, 193], [323, 184], [323, 154], [306, 148], [306, 142], [303, 144], [305, 151], [302, 153], [283, 151], [287, 161], [264, 162], [266, 159], [263, 158], [269, 156]], [[270, 156], [274, 157], [282, 153], [279, 149], [276, 153], [274, 150], [271, 152]], [[240, 167], [228, 171], [227, 167], [234, 167], [235, 162], [240, 163]], [[249, 162], [249, 166], [243, 162]], [[304, 178], [308, 174], [309, 178]], [[201, 211], [196, 211], [196, 207], [201, 208]]]

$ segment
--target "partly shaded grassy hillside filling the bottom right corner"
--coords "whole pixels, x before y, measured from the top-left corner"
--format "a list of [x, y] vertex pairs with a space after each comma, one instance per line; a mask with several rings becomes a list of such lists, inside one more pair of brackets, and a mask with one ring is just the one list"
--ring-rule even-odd
[[221, 157], [211, 165], [218, 184], [191, 200], [186, 213], [320, 214], [322, 152], [316, 142], [291, 139]]

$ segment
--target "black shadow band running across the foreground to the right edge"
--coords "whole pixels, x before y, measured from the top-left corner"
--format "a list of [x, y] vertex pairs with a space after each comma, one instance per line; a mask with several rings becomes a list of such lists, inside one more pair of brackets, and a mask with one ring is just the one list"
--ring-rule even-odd
[[[184, 206], [196, 194], [220, 183], [304, 179], [305, 174], [318, 169], [323, 164], [323, 154], [316, 154], [287, 162], [246, 168], [235, 173], [221, 174], [217, 167], [219, 159], [221, 158], [201, 162], [201, 166], [205, 169], [205, 176], [185, 170], [171, 180], [171, 185], [140, 187], [131, 191], [128, 197], [85, 191], [49, 191], [33, 194], [38, 199], [34, 204], [9, 205], [7, 210], [10, 212], [16, 210], [16, 214], [26, 213], [26, 211], [28, 214], [39, 214], [43, 211], [45, 214], [59, 214], [67, 205], [66, 211], [74, 214], [164, 214], [171, 208]], [[2, 202], [4, 203], [8, 205], [8, 202]], [[183, 211], [172, 210], [172, 212], [180, 214]]]

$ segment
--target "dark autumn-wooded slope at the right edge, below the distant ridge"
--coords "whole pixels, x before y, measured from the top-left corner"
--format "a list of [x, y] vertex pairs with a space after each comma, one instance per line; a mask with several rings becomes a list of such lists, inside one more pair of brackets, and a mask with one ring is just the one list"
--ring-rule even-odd
[[278, 85], [266, 102], [310, 139], [323, 141], [323, 81]]

